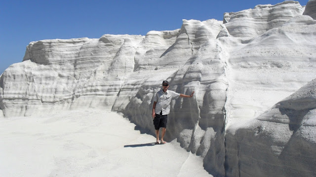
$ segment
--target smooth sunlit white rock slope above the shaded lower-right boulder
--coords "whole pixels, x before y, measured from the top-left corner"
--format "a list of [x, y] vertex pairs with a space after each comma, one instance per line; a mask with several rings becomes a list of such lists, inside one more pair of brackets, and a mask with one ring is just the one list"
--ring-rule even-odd
[[316, 21], [297, 16], [250, 41], [219, 38], [228, 45], [229, 119], [255, 118], [315, 79]]

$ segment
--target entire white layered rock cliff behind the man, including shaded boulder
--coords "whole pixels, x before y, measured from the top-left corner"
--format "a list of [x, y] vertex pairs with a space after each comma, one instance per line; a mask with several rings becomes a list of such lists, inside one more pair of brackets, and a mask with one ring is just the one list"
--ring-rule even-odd
[[315, 176], [315, 80], [300, 89], [316, 78], [314, 2], [257, 5], [146, 36], [31, 42], [0, 77], [0, 116], [99, 108], [154, 133], [153, 95], [169, 80], [196, 93], [171, 102], [166, 139], [202, 156], [210, 174]]

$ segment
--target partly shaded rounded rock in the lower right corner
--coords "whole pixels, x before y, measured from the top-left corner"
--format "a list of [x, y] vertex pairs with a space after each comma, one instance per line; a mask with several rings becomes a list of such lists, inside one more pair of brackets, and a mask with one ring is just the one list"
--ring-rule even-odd
[[258, 118], [227, 129], [226, 176], [314, 177], [315, 147], [316, 79]]

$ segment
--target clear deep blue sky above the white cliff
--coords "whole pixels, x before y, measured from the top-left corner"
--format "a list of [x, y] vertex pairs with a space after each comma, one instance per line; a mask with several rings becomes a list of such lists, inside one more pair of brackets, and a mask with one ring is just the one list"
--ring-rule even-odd
[[[100, 38], [179, 29], [182, 19], [223, 20], [257, 4], [283, 0], [0, 0], [0, 74], [43, 39]], [[300, 0], [306, 5], [308, 0]]]

